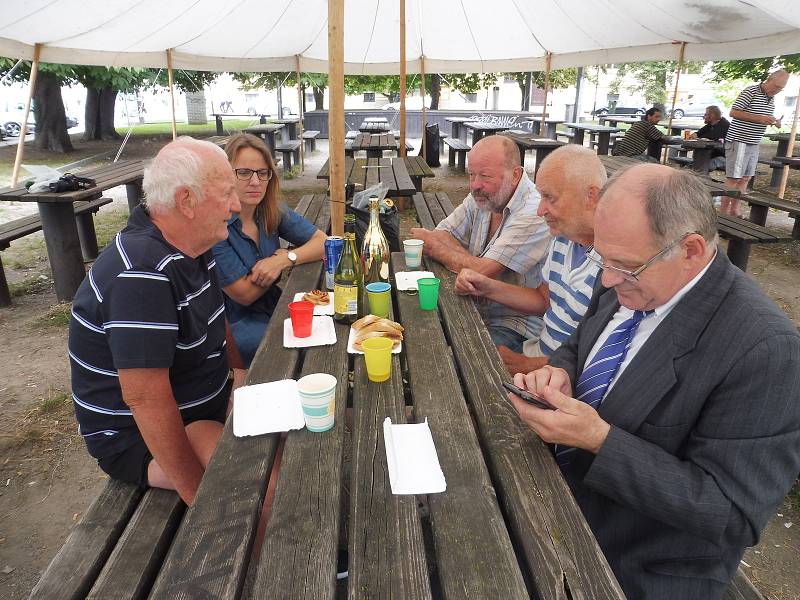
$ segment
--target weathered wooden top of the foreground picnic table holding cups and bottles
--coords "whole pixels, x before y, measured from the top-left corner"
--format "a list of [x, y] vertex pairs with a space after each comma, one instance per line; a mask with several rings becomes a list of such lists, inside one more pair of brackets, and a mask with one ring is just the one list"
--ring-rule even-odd
[[[313, 196], [306, 217], [322, 226], [327, 205]], [[452, 209], [443, 196], [420, 221], [432, 228]], [[332, 600], [342, 540], [353, 600], [430, 599], [434, 564], [446, 598], [623, 598], [552, 454], [502, 391], [508, 375], [474, 302], [455, 295], [452, 273], [427, 266], [442, 278], [440, 308], [422, 311], [416, 296], [395, 292], [404, 360], [393, 356], [382, 383], [347, 354], [347, 325], [334, 325], [334, 345], [284, 348], [288, 302], [320, 287], [322, 275], [320, 263], [292, 269], [247, 383], [332, 374], [334, 426], [285, 434], [256, 562], [251, 546], [281, 434], [236, 438], [229, 419], [150, 597], [239, 597], [247, 577], [252, 598]], [[404, 270], [401, 253], [392, 268], [392, 278]], [[413, 422], [427, 420], [447, 482], [427, 496], [429, 517], [417, 497], [391, 491], [383, 421], [406, 423], [408, 402]]]

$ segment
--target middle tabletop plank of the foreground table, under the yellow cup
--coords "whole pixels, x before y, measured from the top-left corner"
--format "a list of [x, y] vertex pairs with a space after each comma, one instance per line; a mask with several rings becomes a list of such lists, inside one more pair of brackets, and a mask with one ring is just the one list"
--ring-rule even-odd
[[386, 466], [383, 420], [406, 422], [400, 360], [382, 383], [367, 379], [363, 356], [354, 370], [348, 598], [430, 598], [416, 498], [392, 494]]

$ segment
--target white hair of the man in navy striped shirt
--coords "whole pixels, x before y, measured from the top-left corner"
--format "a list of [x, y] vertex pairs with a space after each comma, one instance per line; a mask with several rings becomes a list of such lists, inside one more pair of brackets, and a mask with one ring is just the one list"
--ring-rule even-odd
[[216, 144], [181, 136], [164, 146], [144, 170], [144, 205], [150, 212], [165, 213], [175, 208], [175, 191], [186, 187], [201, 201], [208, 180], [209, 153], [217, 153], [227, 162], [225, 152]]

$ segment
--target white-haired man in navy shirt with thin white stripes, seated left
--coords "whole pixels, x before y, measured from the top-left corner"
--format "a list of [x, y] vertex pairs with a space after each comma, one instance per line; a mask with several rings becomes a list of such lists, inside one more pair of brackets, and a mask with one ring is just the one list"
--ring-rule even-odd
[[210, 252], [241, 207], [225, 153], [192, 138], [165, 146], [143, 187], [75, 295], [73, 402], [103, 471], [190, 505], [241, 366]]

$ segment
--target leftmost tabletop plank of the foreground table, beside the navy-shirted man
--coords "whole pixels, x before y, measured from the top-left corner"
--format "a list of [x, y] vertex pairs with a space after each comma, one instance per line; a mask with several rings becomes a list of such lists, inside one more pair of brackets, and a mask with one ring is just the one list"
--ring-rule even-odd
[[[299, 354], [283, 347], [283, 321], [294, 294], [318, 287], [321, 273], [319, 262], [292, 269], [253, 359], [248, 384], [294, 376]], [[239, 597], [278, 439], [277, 434], [236, 438], [228, 419], [152, 598]]]

